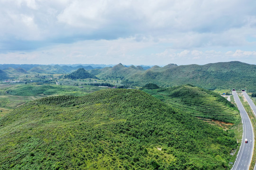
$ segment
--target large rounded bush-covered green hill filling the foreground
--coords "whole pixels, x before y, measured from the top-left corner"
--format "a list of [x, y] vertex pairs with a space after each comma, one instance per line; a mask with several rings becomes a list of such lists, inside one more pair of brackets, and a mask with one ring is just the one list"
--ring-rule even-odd
[[139, 90], [29, 102], [0, 118], [0, 169], [229, 169], [234, 134]]

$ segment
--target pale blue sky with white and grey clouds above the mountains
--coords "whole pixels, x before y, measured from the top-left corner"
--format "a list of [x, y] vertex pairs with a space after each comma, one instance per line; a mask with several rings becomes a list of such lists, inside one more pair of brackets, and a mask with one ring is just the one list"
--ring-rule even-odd
[[256, 0], [0, 0], [0, 64], [256, 64]]

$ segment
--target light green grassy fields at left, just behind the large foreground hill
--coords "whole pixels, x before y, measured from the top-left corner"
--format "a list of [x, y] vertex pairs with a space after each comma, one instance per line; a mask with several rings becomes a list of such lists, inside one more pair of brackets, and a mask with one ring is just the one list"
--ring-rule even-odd
[[91, 85], [85, 85], [84, 88], [77, 86], [49, 84], [0, 85], [0, 117], [8, 114], [16, 107], [36, 99], [55, 95], [81, 96], [101, 89], [103, 88]]

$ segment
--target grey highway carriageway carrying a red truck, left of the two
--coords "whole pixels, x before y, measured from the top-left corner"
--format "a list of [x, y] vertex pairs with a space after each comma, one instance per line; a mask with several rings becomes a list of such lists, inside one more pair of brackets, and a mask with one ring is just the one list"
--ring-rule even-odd
[[[241, 101], [238, 98], [237, 92], [232, 91], [232, 93], [234, 95], [235, 102], [238, 105], [238, 110], [240, 111], [240, 115], [243, 122], [242, 144], [240, 146], [237, 160], [235, 161], [235, 164], [232, 170], [249, 170], [249, 167], [252, 161], [252, 156], [253, 156], [253, 149], [254, 149], [253, 127], [244, 106], [242, 105]], [[248, 143], [245, 143], [245, 139], [248, 140]]]

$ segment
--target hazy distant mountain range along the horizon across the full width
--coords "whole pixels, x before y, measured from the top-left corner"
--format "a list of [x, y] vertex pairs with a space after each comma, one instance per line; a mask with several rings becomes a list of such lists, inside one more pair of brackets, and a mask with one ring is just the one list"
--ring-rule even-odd
[[3, 64], [0, 65], [0, 69], [2, 69], [0, 70], [0, 79], [7, 79], [15, 74], [71, 73], [79, 68], [84, 68], [100, 79], [120, 79], [122, 84], [125, 85], [144, 86], [148, 83], [154, 83], [159, 86], [177, 86], [192, 84], [210, 90], [245, 88], [250, 92], [256, 92], [256, 65], [239, 61], [206, 65], [178, 66], [176, 64], [168, 64], [165, 67], [124, 66], [121, 63], [105, 68], [93, 68], [92, 66], [84, 65], [74, 66]]

